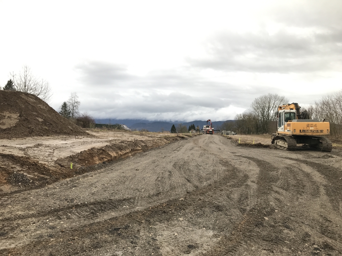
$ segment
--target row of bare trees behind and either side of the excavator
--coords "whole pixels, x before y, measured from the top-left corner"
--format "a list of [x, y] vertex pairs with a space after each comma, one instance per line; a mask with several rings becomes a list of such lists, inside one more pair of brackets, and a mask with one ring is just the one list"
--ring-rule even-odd
[[[240, 134], [274, 133], [277, 130], [278, 106], [289, 103], [285, 96], [261, 95], [253, 100], [247, 111], [237, 114], [232, 121], [224, 122], [220, 128]], [[313, 104], [302, 105], [300, 111], [306, 112], [308, 119], [329, 122], [332, 136], [342, 134], [342, 90], [322, 96]]]

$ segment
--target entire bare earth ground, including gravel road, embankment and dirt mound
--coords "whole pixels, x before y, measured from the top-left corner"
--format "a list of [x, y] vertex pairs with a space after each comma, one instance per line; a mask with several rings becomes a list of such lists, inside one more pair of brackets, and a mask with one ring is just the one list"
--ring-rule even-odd
[[84, 130], [10, 96], [0, 255], [342, 254], [338, 141], [327, 153], [269, 135]]

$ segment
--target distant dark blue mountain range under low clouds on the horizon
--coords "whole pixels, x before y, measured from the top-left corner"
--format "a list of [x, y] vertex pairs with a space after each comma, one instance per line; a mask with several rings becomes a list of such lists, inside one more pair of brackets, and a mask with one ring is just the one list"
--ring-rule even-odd
[[[232, 120], [227, 120], [227, 121], [232, 121]], [[98, 124], [109, 124], [109, 119], [95, 119], [95, 122]], [[215, 121], [212, 122], [214, 129], [219, 129], [219, 127], [226, 121]], [[187, 128], [194, 124], [195, 127], [199, 126], [200, 129], [203, 128], [203, 125], [206, 125], [206, 121], [201, 121], [201, 120], [196, 120], [192, 122], [162, 122], [162, 121], [148, 121], [148, 120], [143, 120], [143, 119], [111, 119], [110, 124], [125, 124], [127, 125], [130, 129], [136, 129], [136, 130], [141, 130], [141, 129], [147, 129], [152, 132], [158, 132], [158, 131], [170, 131], [172, 125], [177, 128], [178, 124], [185, 125]]]

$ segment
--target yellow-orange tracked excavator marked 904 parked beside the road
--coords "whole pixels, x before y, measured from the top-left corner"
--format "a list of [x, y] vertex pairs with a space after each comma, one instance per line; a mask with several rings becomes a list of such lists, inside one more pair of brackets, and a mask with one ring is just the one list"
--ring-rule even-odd
[[272, 144], [284, 150], [297, 150], [297, 144], [307, 144], [325, 152], [331, 152], [332, 143], [329, 122], [309, 119], [306, 111], [300, 112], [298, 103], [278, 107], [278, 130], [272, 134]]

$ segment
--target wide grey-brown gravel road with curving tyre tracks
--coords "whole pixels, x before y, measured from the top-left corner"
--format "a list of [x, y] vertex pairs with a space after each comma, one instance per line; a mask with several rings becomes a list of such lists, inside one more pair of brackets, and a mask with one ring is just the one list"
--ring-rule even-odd
[[0, 255], [341, 255], [341, 153], [172, 143], [0, 201]]

